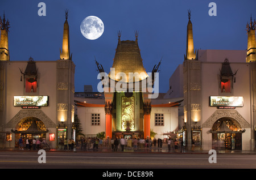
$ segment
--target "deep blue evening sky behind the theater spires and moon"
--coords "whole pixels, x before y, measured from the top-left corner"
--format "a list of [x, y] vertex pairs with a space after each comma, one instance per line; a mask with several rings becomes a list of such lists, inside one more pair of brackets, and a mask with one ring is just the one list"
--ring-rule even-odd
[[[46, 3], [46, 16], [39, 16], [39, 2]], [[217, 16], [209, 16], [210, 2], [217, 5]], [[247, 48], [246, 23], [252, 15], [256, 19], [256, 1], [217, 0], [1, 0], [0, 15], [10, 21], [10, 61], [56, 61], [62, 47], [65, 9], [68, 23], [72, 60], [76, 65], [75, 91], [84, 91], [85, 84], [97, 91], [97, 61], [110, 71], [117, 47], [117, 32], [121, 40], [135, 40], [143, 65], [151, 72], [161, 58], [159, 88], [168, 91], [168, 80], [176, 67], [183, 63], [188, 9], [191, 9], [194, 46], [197, 49]], [[97, 16], [105, 26], [97, 40], [88, 40], [80, 32], [80, 24], [87, 16]]]

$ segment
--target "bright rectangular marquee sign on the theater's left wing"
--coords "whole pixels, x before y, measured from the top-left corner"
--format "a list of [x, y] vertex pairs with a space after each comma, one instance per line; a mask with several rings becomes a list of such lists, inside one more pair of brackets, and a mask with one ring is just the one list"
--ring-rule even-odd
[[14, 106], [48, 106], [48, 96], [14, 96]]

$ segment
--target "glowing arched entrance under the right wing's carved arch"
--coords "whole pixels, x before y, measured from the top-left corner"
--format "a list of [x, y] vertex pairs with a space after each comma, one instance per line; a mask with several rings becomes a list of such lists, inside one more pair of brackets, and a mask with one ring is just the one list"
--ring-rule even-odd
[[220, 118], [212, 126], [212, 148], [242, 150], [242, 128], [232, 118]]

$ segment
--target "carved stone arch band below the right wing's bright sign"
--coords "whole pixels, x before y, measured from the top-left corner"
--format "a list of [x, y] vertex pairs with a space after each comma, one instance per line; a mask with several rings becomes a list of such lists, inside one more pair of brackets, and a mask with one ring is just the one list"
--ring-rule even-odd
[[249, 128], [250, 124], [242, 117], [237, 110], [216, 110], [208, 119], [203, 123], [203, 127], [212, 127], [214, 122], [223, 117], [230, 117], [235, 119], [241, 128]]

